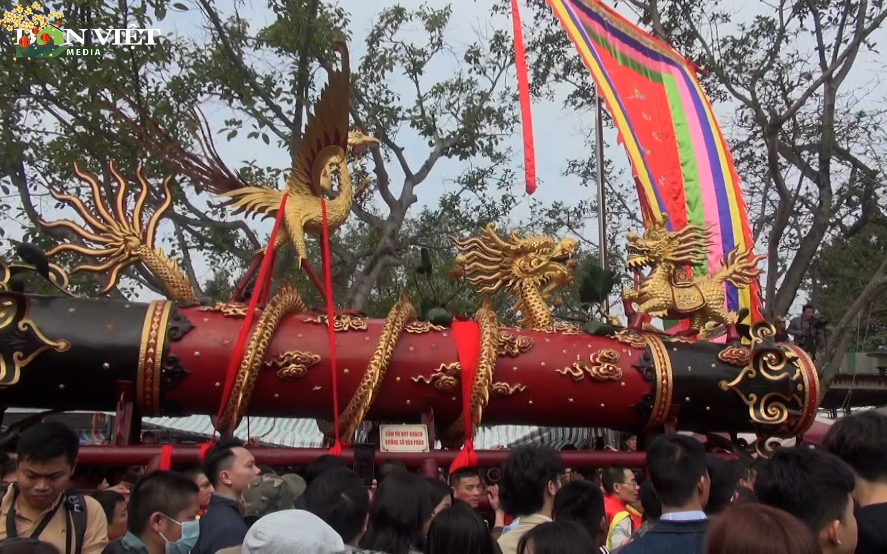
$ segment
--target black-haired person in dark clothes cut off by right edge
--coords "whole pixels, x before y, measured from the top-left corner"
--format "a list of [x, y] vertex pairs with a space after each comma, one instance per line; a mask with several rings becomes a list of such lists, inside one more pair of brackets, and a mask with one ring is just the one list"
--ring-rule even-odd
[[887, 416], [873, 410], [842, 417], [821, 447], [856, 473], [856, 554], [887, 552]]

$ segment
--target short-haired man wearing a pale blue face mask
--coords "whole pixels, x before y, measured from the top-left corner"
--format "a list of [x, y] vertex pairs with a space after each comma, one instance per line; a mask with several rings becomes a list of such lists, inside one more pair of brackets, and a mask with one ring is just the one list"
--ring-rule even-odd
[[177, 472], [150, 472], [130, 495], [127, 532], [103, 554], [188, 554], [200, 536], [200, 488]]

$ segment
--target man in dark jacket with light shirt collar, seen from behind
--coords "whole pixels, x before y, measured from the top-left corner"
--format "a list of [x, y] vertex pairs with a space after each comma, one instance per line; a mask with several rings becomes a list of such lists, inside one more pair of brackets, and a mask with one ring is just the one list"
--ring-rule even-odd
[[703, 554], [710, 488], [703, 443], [682, 434], [660, 435], [647, 449], [647, 468], [663, 514], [620, 554]]

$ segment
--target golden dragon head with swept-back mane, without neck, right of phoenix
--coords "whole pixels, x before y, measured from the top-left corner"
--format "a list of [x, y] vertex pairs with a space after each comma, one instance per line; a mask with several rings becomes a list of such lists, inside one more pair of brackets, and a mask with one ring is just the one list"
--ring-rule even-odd
[[569, 285], [576, 268], [577, 242], [555, 242], [542, 235], [522, 238], [517, 232], [504, 240], [496, 225], [487, 225], [480, 237], [450, 238], [459, 249], [456, 263], [478, 293], [514, 290], [518, 285]]

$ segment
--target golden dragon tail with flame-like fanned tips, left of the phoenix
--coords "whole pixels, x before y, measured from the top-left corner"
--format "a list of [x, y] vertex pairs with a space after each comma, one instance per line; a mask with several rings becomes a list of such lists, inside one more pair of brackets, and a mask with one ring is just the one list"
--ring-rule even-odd
[[142, 221], [147, 204], [151, 184], [145, 178], [145, 168], [138, 165], [136, 168], [136, 180], [141, 190], [132, 207], [131, 215], [127, 213], [127, 204], [130, 196], [130, 186], [114, 165], [114, 161], [108, 164], [108, 170], [117, 182], [114, 202], [107, 202], [103, 198], [101, 187], [95, 176], [84, 173], [77, 164], [74, 165], [74, 174], [84, 183], [89, 183], [92, 191], [92, 200], [95, 205], [95, 215], [82, 199], [58, 191], [50, 191], [52, 198], [64, 202], [73, 207], [86, 223], [86, 229], [67, 219], [47, 222], [43, 219], [38, 222], [44, 229], [67, 229], [77, 237], [82, 238], [87, 246], [65, 243], [53, 247], [47, 254], [52, 258], [65, 252], [75, 252], [90, 258], [106, 258], [102, 263], [81, 264], [75, 267], [72, 273], [80, 271], [87, 273], [108, 273], [106, 285], [101, 294], [105, 294], [114, 288], [119, 282], [122, 272], [134, 263], [143, 263], [154, 277], [161, 280], [166, 286], [172, 300], [182, 302], [197, 302], [191, 281], [184, 275], [175, 260], [169, 258], [160, 248], [154, 246], [157, 235], [157, 225], [163, 215], [172, 206], [173, 197], [169, 191], [167, 177], [163, 180], [160, 194], [160, 204], [154, 208], [154, 212]]

